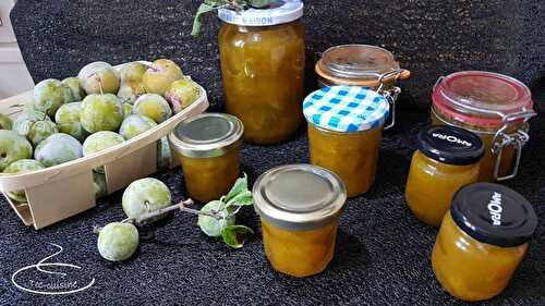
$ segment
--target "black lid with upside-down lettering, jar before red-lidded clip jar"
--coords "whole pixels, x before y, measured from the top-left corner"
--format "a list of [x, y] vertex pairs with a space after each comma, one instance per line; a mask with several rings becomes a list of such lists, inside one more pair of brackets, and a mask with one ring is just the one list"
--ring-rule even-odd
[[477, 135], [449, 125], [422, 130], [416, 146], [431, 159], [457, 166], [476, 163], [484, 155], [484, 144]]

